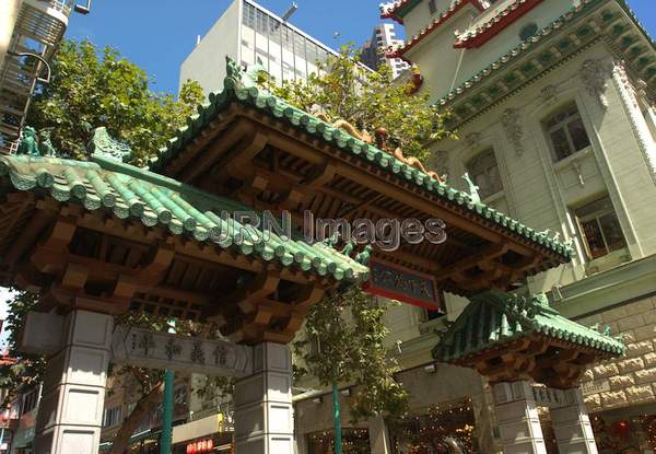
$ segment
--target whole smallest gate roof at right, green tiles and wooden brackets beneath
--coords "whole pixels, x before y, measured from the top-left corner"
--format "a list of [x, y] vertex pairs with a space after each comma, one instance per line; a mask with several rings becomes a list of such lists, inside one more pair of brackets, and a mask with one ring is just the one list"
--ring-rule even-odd
[[531, 298], [489, 291], [470, 299], [433, 349], [433, 358], [477, 369], [493, 382], [530, 377], [566, 387], [585, 364], [623, 356], [610, 328], [585, 327], [549, 306], [543, 293]]

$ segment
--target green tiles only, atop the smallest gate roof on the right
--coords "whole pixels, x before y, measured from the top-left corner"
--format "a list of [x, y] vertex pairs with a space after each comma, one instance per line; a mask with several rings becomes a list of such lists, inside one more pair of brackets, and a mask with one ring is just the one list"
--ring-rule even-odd
[[624, 344], [595, 328], [572, 322], [549, 306], [544, 294], [530, 299], [489, 291], [471, 298], [433, 349], [437, 361], [453, 362], [534, 334], [622, 356]]

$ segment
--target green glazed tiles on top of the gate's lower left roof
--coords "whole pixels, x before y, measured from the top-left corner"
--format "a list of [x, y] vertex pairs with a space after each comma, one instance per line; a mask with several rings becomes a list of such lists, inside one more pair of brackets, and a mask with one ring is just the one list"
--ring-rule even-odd
[[[105, 210], [119, 219], [134, 219], [174, 235], [212, 242], [224, 249], [279, 261], [283, 267], [330, 276], [336, 280], [364, 281], [368, 268], [323, 243], [308, 244], [300, 236], [283, 240], [274, 232], [244, 226], [226, 217], [251, 211], [225, 197], [214, 196], [175, 179], [93, 154], [91, 161], [31, 155], [0, 158], [0, 181], [25, 191], [45, 194], [62, 202], [77, 202], [89, 211]], [[250, 235], [242, 235], [249, 232]], [[243, 238], [246, 236], [246, 238]]]

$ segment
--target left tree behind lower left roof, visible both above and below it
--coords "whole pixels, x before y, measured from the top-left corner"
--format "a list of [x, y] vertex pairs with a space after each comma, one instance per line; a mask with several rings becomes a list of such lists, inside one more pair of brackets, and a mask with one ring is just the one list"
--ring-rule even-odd
[[[79, 159], [86, 153], [93, 128], [105, 126], [113, 137], [132, 148], [133, 163], [143, 164], [203, 101], [200, 85], [192, 81], [183, 85], [177, 100], [171, 94], [153, 92], [149, 88], [152, 79], [145, 71], [116, 49], [99, 50], [89, 40], [61, 43], [51, 68], [50, 83], [38, 88], [27, 124], [36, 129], [51, 128], [55, 148]], [[17, 292], [9, 302], [5, 325], [11, 330], [9, 350], [19, 361], [0, 368], [0, 385], [10, 389], [10, 396], [22, 385], [39, 383], [43, 376], [44, 359], [22, 354], [16, 349], [16, 336], [25, 315], [36, 304], [37, 295], [26, 292]], [[155, 330], [167, 328], [166, 321], [148, 314], [127, 314], [117, 323]], [[191, 323], [180, 323], [176, 329], [206, 337], [212, 331], [211, 327]], [[132, 386], [137, 406], [113, 446], [113, 453], [122, 453], [143, 417], [161, 401], [163, 373], [141, 368], [113, 368], [110, 373], [137, 384]]]

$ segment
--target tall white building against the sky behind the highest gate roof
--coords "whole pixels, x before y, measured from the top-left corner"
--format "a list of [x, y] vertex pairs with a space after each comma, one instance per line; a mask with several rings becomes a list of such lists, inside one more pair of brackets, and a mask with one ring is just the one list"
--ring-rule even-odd
[[180, 66], [180, 85], [192, 79], [206, 94], [223, 86], [225, 56], [244, 67], [258, 60], [277, 81], [305, 79], [330, 47], [251, 0], [234, 0]]

